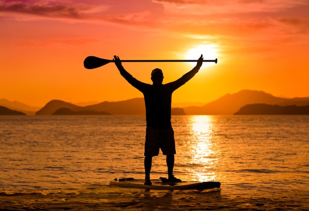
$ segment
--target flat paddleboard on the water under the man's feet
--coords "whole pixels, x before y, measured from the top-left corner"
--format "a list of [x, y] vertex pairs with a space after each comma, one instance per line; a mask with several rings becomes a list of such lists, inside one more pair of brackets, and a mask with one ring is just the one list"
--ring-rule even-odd
[[[182, 182], [162, 182], [162, 179], [152, 179], [152, 185], [145, 185], [144, 179], [120, 178], [110, 181], [110, 186], [124, 188], [140, 188], [140, 189], [155, 189], [155, 190], [205, 190], [212, 188], [220, 188], [221, 183], [218, 181], [182, 181]], [[163, 180], [164, 181], [164, 180]]]

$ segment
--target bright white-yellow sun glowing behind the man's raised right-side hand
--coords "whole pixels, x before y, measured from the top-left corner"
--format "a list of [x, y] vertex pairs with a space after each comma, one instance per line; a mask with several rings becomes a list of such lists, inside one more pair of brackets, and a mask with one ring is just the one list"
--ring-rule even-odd
[[[197, 60], [200, 55], [203, 54], [204, 60], [214, 60], [218, 56], [218, 46], [216, 44], [203, 44], [203, 45], [197, 45], [193, 48], [191, 48], [185, 55], [187, 60]], [[196, 65], [193, 63], [190, 63], [192, 65]], [[205, 62], [203, 63], [203, 66], [211, 66], [214, 65], [213, 62]]]

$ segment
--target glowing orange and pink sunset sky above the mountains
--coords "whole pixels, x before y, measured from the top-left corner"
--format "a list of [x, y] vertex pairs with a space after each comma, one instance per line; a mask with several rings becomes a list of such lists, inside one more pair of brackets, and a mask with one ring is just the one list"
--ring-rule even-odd
[[[309, 97], [308, 11], [308, 0], [0, 0], [0, 99], [44, 106], [142, 97], [113, 63], [86, 70], [84, 58], [199, 54], [218, 64], [203, 64], [173, 102], [207, 103], [243, 89]], [[167, 83], [193, 65], [123, 63], [147, 83], [154, 68]]]

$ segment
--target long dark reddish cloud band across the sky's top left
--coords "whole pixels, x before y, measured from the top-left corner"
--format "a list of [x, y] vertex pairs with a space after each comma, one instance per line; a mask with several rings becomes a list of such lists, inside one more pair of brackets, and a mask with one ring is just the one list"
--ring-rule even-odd
[[127, 5], [109, 3], [98, 5], [52, 0], [0, 0], [0, 18], [14, 18], [23, 21], [54, 19], [65, 22], [91, 21], [152, 26], [159, 12], [157, 8], [147, 10], [145, 6], [148, 4], [140, 9], [133, 7], [128, 9]]

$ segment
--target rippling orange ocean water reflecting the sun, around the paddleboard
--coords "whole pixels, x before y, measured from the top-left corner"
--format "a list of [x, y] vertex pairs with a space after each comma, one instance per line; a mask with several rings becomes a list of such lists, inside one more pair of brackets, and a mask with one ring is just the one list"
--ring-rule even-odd
[[[172, 116], [174, 175], [207, 191], [116, 188], [144, 178], [145, 116], [0, 116], [0, 210], [309, 211], [309, 116]], [[167, 176], [165, 156], [151, 178]]]

